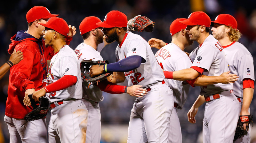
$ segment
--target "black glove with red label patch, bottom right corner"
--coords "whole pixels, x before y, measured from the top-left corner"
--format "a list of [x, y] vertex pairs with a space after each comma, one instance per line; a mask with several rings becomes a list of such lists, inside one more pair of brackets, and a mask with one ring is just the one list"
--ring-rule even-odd
[[[234, 141], [241, 138], [243, 135], [247, 134], [248, 128], [251, 122], [252, 122], [252, 114], [239, 117], [237, 126], [236, 126]], [[243, 126], [244, 123], [248, 123], [248, 126], [246, 125], [246, 130], [244, 130], [244, 126]], [[252, 127], [253, 127], [253, 122], [252, 122]]]

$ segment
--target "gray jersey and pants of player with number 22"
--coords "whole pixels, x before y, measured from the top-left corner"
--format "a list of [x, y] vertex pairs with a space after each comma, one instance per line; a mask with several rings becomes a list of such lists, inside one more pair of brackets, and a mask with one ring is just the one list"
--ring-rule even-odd
[[167, 143], [174, 104], [172, 90], [161, 82], [164, 80], [164, 72], [148, 42], [140, 35], [127, 31], [116, 48], [116, 57], [122, 60], [134, 55], [141, 56], [146, 61], [139, 68], [124, 72], [125, 77], [129, 86], [142, 85], [142, 88], [148, 89], [148, 94], [138, 97], [133, 104], [127, 143]]

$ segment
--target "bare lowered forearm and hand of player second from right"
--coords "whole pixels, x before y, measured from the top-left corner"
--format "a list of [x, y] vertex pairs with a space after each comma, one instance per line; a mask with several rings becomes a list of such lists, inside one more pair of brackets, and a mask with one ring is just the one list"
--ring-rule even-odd
[[195, 103], [191, 107], [191, 109], [188, 111], [188, 121], [190, 123], [195, 124], [196, 123], [196, 113], [198, 111], [198, 107], [200, 107], [203, 103], [205, 102], [204, 96], [199, 95], [198, 98], [196, 99]]

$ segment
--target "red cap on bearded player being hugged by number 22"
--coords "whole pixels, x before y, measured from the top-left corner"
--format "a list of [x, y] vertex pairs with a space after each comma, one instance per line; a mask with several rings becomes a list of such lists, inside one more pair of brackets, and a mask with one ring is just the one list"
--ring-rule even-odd
[[96, 25], [96, 23], [101, 22], [101, 20], [98, 17], [95, 16], [89, 16], [84, 18], [84, 20], [81, 22], [79, 26], [80, 34], [83, 35], [92, 29], [98, 28], [100, 26]]

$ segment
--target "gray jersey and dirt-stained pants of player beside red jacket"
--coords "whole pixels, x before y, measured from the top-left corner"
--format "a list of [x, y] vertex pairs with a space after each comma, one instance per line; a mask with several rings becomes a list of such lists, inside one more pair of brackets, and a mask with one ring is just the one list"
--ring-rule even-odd
[[[88, 111], [82, 100], [80, 63], [76, 53], [68, 45], [64, 45], [52, 57], [46, 85], [65, 75], [76, 76], [76, 84], [46, 94], [50, 102], [54, 102], [56, 105], [55, 108], [51, 109], [48, 127], [49, 142], [85, 142]], [[76, 100], [69, 100], [71, 98]], [[57, 101], [62, 101], [63, 104], [59, 105]]]

